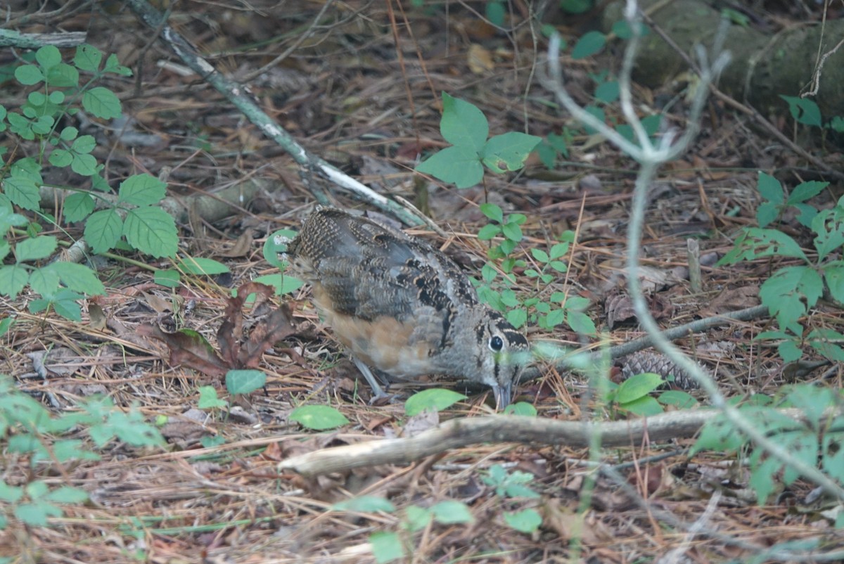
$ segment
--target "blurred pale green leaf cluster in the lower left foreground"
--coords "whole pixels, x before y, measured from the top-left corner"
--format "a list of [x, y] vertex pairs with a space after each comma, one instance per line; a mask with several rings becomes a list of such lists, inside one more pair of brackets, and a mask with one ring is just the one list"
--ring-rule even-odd
[[[54, 486], [53, 464], [99, 460], [94, 449], [78, 438], [84, 430], [97, 449], [111, 441], [133, 447], [162, 447], [158, 430], [143, 420], [137, 409], [116, 409], [111, 399], [87, 399], [81, 409], [65, 415], [51, 415], [38, 401], [21, 393], [12, 379], [0, 375], [0, 437], [3, 452], [26, 460], [30, 476], [25, 485], [11, 485], [0, 478], [0, 530], [10, 518], [32, 527], [44, 527], [51, 517], [63, 515], [62, 505], [80, 504], [88, 494], [79, 488]], [[41, 476], [44, 476], [42, 478]]]

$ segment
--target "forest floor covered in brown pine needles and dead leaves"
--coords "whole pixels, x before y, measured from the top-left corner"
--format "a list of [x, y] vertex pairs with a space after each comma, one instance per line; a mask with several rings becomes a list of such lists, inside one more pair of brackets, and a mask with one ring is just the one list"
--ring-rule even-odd
[[[487, 444], [406, 467], [314, 479], [279, 476], [275, 468], [281, 459], [369, 437], [394, 437], [409, 424], [400, 403], [367, 404], [369, 390], [356, 383], [354, 366], [340, 355], [330, 329], [319, 323], [306, 290], [284, 297], [294, 323], [301, 324], [298, 334], [284, 342], [292, 353], [276, 347], [263, 355], [260, 368], [268, 375], [267, 385], [232, 399], [229, 413], [197, 409], [201, 385], [217, 386], [225, 397], [220, 379], [170, 366], [162, 360], [165, 349], [139, 336], [138, 326], [192, 328], [216, 344], [230, 289], [273, 270], [262, 257], [263, 241], [282, 227], [295, 229], [312, 209], [313, 198], [300, 181], [298, 166], [200, 77], [185, 72], [122, 3], [68, 6], [43, 25], [37, 18], [35, 24], [16, 19], [11, 27], [87, 30], [91, 44], [116, 52], [133, 69], [133, 78], [108, 83], [122, 99], [124, 122], [106, 127], [80, 119], [77, 124], [100, 141], [95, 155], [106, 163], [112, 183], [145, 171], [165, 178], [176, 198], [213, 195], [249, 180], [261, 182], [262, 190], [231, 209], [226, 220], [211, 224], [193, 214], [181, 225], [183, 250], [226, 263], [230, 274], [189, 279], [170, 291], [155, 285], [147, 268], [168, 268], [169, 263], [108, 259], [99, 266], [109, 293], [85, 305], [81, 324], [31, 315], [26, 309], [31, 295], [3, 299], [17, 324], [3, 338], [0, 371], [11, 374], [19, 388], [57, 411], [73, 409], [80, 398], [95, 393], [107, 393], [121, 406], [137, 404], [149, 420], [166, 418], [161, 431], [171, 449], [138, 451], [113, 444], [101, 461], [65, 468], [56, 480], [89, 491], [91, 502], [68, 507], [66, 516], [52, 519], [48, 529], [11, 521], [0, 532], [0, 555], [19, 555], [20, 562], [371, 561], [369, 534], [402, 531], [401, 510], [448, 499], [467, 503], [474, 523], [404, 532], [414, 555], [408, 561], [656, 561], [681, 546], [683, 561], [742, 561], [752, 553], [750, 545], [810, 538], [835, 542], [832, 523], [819, 512], [822, 502], [805, 502], [813, 485], [798, 481], [760, 507], [741, 458], [690, 457], [686, 448], [692, 441], [686, 439], [603, 453], [617, 464], [625, 487], [598, 477], [586, 501], [582, 488], [593, 468], [589, 453], [566, 447]], [[587, 313], [609, 344], [641, 336], [635, 320], [619, 314], [636, 163], [584, 132], [538, 84], [535, 74], [546, 43], [538, 25], [529, 23], [527, 6], [514, 4], [507, 33], [481, 22], [477, 10], [482, 5], [449, 6], [408, 4], [402, 11], [392, 4], [387, 10], [383, 3], [335, 3], [319, 15], [322, 3], [183, 2], [172, 7], [170, 24], [217, 68], [249, 84], [262, 109], [312, 152], [378, 192], [428, 210], [448, 239], [426, 230], [414, 233], [444, 247], [470, 274], [479, 276], [488, 247], [477, 237], [486, 224], [479, 203], [490, 201], [505, 213], [527, 215], [518, 253], [528, 262], [533, 261], [531, 248], [547, 249], [565, 230], [576, 230], [576, 244], [565, 257], [566, 274], [538, 285], [525, 268], [517, 268], [512, 288], [519, 296], [546, 301], [555, 292], [587, 297], [592, 304]], [[405, 17], [409, 27], [402, 23]], [[555, 13], [545, 21], [557, 25], [570, 43], [590, 24], [587, 17]], [[577, 100], [592, 102], [595, 76], [617, 70], [620, 48], [611, 44], [598, 57], [583, 60], [566, 57]], [[287, 50], [287, 57], [275, 60]], [[3, 64], [13, 60], [8, 51], [0, 57]], [[663, 111], [670, 123], [683, 127], [687, 86], [678, 81], [658, 91], [637, 89], [642, 114]], [[494, 134], [570, 133], [568, 155], [558, 155], [552, 170], [532, 157], [523, 171], [488, 174], [484, 187], [468, 190], [414, 175], [420, 153], [445, 146], [439, 133], [441, 91], [479, 106]], [[23, 95], [3, 93], [18, 102]], [[14, 106], [14, 101], [6, 104]], [[614, 105], [604, 111], [609, 122], [623, 121]], [[810, 139], [803, 143], [822, 151]], [[720, 268], [713, 266], [714, 259], [732, 247], [739, 227], [755, 221], [756, 171], [776, 169], [776, 176], [793, 186], [814, 178], [802, 165], [756, 134], [752, 122], [716, 103], [708, 107], [693, 148], [660, 171], [647, 212], [642, 252], [652, 311], [664, 327], [759, 303], [757, 287], [770, 275], [771, 263]], [[80, 179], [49, 182], [73, 186]], [[363, 207], [346, 193], [322, 187], [340, 207]], [[840, 192], [830, 188], [823, 195], [827, 203]], [[68, 229], [80, 235], [74, 226]], [[685, 279], [689, 238], [700, 242], [705, 257], [704, 291], [697, 294]], [[104, 317], [95, 319], [92, 304]], [[836, 310], [819, 310], [813, 323], [837, 324], [839, 316]], [[773, 347], [752, 340], [767, 323], [733, 323], [679, 344], [717, 376], [728, 396], [774, 394], [785, 383], [782, 361]], [[551, 331], [528, 323], [526, 331], [530, 339], [570, 347], [598, 342], [584, 343], [565, 325]], [[41, 372], [46, 378], [34, 368], [36, 356], [47, 368]], [[619, 366], [612, 371], [616, 380]], [[541, 377], [524, 384], [517, 397], [533, 404], [538, 415], [609, 417], [603, 409], [600, 415], [592, 412], [586, 377], [539, 368]], [[838, 386], [840, 377], [836, 371], [815, 371], [802, 378]], [[395, 386], [393, 391], [407, 395], [414, 389]], [[702, 396], [701, 401], [706, 403]], [[289, 422], [291, 409], [319, 403], [338, 408], [351, 425], [317, 434]], [[482, 394], [440, 417], [491, 411], [490, 399]], [[203, 449], [199, 440], [208, 436], [225, 442]], [[26, 462], [4, 458], [5, 480], [25, 483]], [[532, 474], [529, 485], [540, 496], [504, 500], [495, 495], [483, 480], [494, 464]], [[707, 510], [713, 491], [721, 496]], [[387, 497], [400, 511], [376, 516], [327, 512], [334, 502], [362, 494]], [[576, 514], [582, 503], [588, 509], [581, 519]], [[505, 512], [527, 507], [543, 516], [535, 534], [518, 533], [503, 518]], [[706, 534], [686, 534], [704, 514]]]

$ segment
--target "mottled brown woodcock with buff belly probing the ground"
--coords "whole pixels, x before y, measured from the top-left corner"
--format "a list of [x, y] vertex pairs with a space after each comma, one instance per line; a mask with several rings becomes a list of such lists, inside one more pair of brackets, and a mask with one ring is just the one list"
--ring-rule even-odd
[[389, 381], [443, 374], [490, 386], [510, 403], [527, 339], [489, 306], [465, 274], [425, 241], [339, 209], [317, 209], [288, 258], [376, 397], [370, 368]]

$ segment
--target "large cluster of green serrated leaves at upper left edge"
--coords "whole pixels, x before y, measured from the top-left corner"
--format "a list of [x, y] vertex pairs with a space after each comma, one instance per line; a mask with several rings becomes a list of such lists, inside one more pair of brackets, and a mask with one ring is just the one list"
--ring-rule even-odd
[[[67, 168], [84, 176], [82, 187], [59, 187], [69, 192], [62, 206], [63, 220], [85, 222], [84, 235], [94, 252], [107, 252], [126, 241], [130, 247], [154, 257], [176, 254], [176, 224], [158, 203], [165, 185], [147, 175], [122, 182], [117, 198], [105, 198], [110, 188], [101, 175], [104, 166], [95, 155], [96, 140], [80, 135], [76, 127], [59, 127], [62, 119], [80, 109], [89, 116], [110, 120], [122, 115], [117, 96], [96, 85], [108, 75], [130, 76], [115, 55], [104, 57], [93, 46], [78, 46], [71, 62], [62, 61], [55, 46], [35, 52], [31, 62], [14, 69], [14, 79], [35, 87], [18, 108], [0, 105], [0, 132], [34, 142], [37, 154], [4, 163], [0, 188], [0, 294], [14, 298], [29, 286], [41, 297], [30, 301], [30, 312], [52, 309], [62, 317], [81, 320], [78, 300], [102, 294], [105, 288], [88, 266], [49, 262], [63, 242], [43, 236], [41, 222], [58, 225], [57, 218], [41, 210], [41, 187], [50, 169]], [[3, 156], [0, 149], [0, 156]], [[97, 203], [100, 210], [95, 212]], [[19, 213], [22, 210], [24, 213]], [[25, 236], [19, 237], [21, 230]], [[16, 241], [16, 242], [15, 242]], [[14, 257], [14, 263], [7, 259]]]

